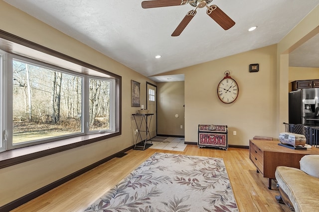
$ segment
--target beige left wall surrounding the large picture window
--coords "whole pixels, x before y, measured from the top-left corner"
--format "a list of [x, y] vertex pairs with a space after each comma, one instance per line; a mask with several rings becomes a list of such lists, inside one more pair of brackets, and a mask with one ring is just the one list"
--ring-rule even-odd
[[131, 79], [141, 83], [144, 105], [146, 81], [156, 83], [2, 0], [0, 29], [122, 76], [122, 135], [0, 169], [2, 206], [133, 145]]

